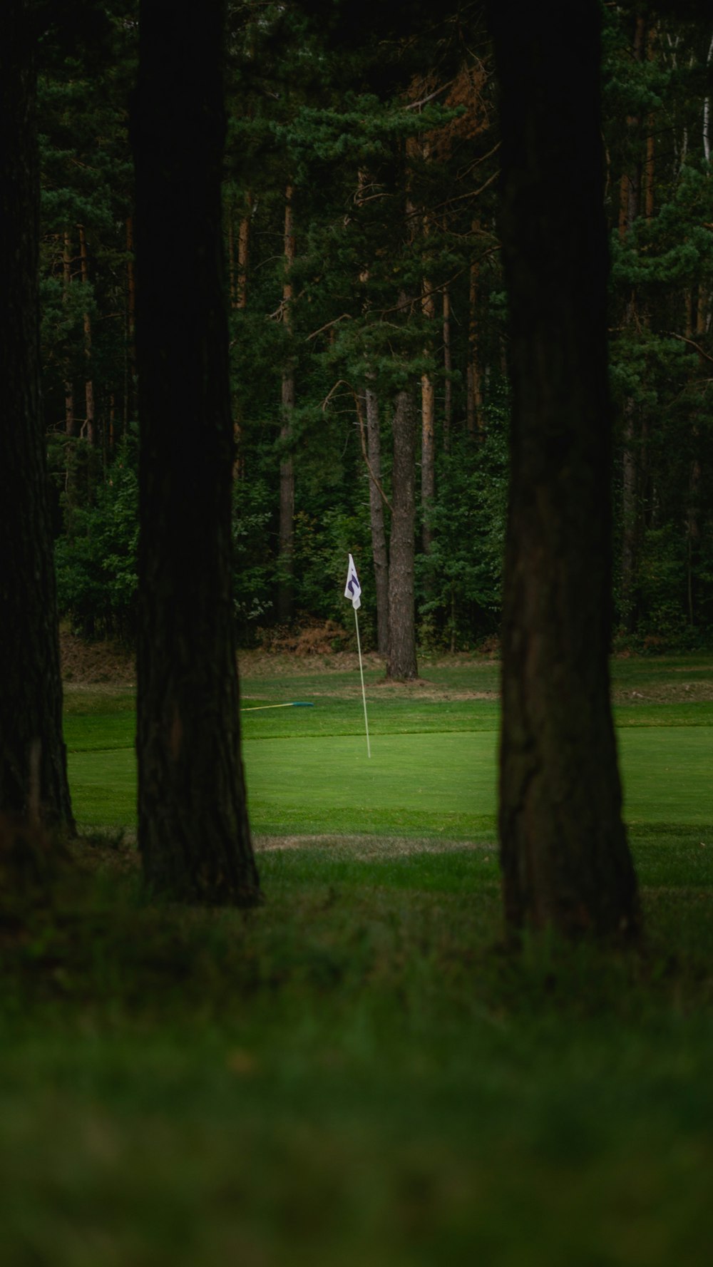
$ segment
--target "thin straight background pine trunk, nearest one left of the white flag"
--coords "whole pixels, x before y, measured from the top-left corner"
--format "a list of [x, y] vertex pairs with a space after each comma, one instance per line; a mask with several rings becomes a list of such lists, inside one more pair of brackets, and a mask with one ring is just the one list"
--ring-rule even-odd
[[[282, 321], [289, 333], [293, 329], [293, 281], [291, 267], [295, 260], [295, 234], [293, 228], [293, 186], [285, 190], [285, 283], [282, 286]], [[295, 408], [295, 365], [293, 348], [287, 350], [287, 360], [282, 369], [282, 424], [280, 443], [280, 528], [279, 528], [279, 585], [277, 620], [290, 621], [294, 606], [294, 531], [295, 531], [295, 469], [289, 445], [293, 440], [293, 413]]]

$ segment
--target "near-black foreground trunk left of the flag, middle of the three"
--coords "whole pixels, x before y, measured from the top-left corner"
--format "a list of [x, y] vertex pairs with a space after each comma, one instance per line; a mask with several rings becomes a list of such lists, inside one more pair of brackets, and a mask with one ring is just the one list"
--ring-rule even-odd
[[220, 229], [223, 0], [142, 0], [133, 118], [139, 372], [138, 818], [147, 882], [260, 901], [232, 621]]

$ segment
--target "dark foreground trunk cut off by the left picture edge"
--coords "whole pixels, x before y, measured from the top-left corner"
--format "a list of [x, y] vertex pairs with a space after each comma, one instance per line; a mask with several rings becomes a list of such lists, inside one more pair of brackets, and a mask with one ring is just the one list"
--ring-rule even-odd
[[30, 6], [5, 0], [0, 5], [0, 810], [27, 815], [30, 801], [37, 807], [39, 799], [48, 824], [73, 831], [39, 399], [33, 37]]

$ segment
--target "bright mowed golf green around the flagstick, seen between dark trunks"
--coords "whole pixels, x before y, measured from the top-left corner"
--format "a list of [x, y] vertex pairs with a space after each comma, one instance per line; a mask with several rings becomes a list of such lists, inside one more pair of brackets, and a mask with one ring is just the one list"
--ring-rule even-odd
[[[285, 684], [289, 692], [295, 694], [294, 683]], [[243, 715], [243, 758], [256, 832], [493, 837], [493, 701], [377, 698], [371, 758], [361, 701], [353, 696], [323, 696], [309, 710], [260, 711], [255, 697], [247, 704], [255, 711]], [[675, 725], [666, 725], [667, 707]], [[691, 725], [681, 725], [680, 707], [671, 706], [621, 717], [624, 815], [632, 825], [713, 822], [713, 726], [702, 723], [695, 704], [689, 707]], [[133, 702], [124, 701], [120, 712], [67, 721], [77, 820], [82, 826], [133, 827]]]

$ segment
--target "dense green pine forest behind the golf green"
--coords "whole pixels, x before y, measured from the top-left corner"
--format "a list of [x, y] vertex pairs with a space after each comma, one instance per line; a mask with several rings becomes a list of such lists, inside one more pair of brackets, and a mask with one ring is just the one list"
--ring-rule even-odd
[[[366, 645], [385, 650], [377, 594], [412, 490], [420, 645], [498, 635], [509, 392], [493, 52], [480, 3], [409, 13], [404, 23], [399, 5], [375, 3], [358, 19], [320, 0], [229, 6], [243, 644], [331, 621], [341, 645], [351, 551]], [[632, 5], [604, 15], [617, 639], [698, 646], [713, 641], [713, 25]], [[85, 6], [82, 22], [49, 29], [41, 47], [56, 563], [73, 628], [130, 641], [137, 4]], [[399, 440], [409, 408], [415, 450]]]

